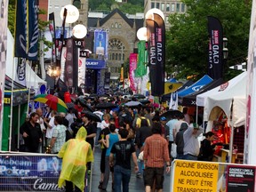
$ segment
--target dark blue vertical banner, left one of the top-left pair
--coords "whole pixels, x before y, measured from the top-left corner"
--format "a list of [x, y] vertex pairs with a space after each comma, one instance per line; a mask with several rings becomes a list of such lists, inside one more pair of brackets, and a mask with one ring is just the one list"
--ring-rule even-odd
[[16, 1], [15, 57], [27, 58], [27, 1]]

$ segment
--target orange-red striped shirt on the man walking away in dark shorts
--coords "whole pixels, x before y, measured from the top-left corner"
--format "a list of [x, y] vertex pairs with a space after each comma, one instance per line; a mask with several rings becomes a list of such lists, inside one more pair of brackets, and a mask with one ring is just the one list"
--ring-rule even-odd
[[153, 134], [145, 140], [143, 159], [148, 167], [164, 167], [170, 162], [168, 142], [160, 134]]

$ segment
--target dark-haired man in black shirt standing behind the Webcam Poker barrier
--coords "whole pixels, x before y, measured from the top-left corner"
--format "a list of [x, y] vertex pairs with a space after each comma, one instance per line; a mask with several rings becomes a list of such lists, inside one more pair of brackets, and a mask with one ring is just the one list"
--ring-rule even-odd
[[40, 124], [36, 123], [39, 115], [33, 112], [30, 114], [29, 121], [20, 127], [20, 134], [25, 141], [25, 152], [38, 153], [39, 144], [43, 140], [43, 133]]

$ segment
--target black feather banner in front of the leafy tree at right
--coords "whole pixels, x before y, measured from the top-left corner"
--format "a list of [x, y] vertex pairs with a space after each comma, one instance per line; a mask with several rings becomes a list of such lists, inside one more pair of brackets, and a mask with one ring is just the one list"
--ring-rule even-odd
[[219, 79], [223, 77], [223, 29], [220, 20], [208, 16], [208, 34], [208, 75], [212, 79]]

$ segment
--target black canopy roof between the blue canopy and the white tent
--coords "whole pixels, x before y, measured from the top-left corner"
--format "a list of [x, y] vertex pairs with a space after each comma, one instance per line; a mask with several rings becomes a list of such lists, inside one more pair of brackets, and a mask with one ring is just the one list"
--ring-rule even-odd
[[223, 79], [216, 79], [213, 80], [210, 84], [206, 84], [204, 87], [202, 87], [198, 92], [193, 92], [191, 94], [185, 95], [184, 97], [179, 98], [179, 103], [182, 106], [196, 106], [196, 96], [199, 94], [202, 94], [203, 92], [208, 92], [209, 90], [212, 90], [213, 88], [219, 86], [220, 84], [223, 84]]

